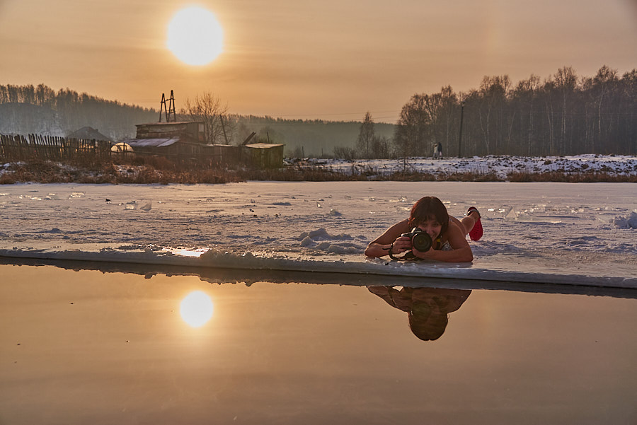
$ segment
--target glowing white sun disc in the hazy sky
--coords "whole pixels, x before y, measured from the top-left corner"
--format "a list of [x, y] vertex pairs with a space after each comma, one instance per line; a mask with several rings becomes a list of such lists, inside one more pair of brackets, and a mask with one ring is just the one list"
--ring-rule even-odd
[[205, 8], [183, 8], [168, 23], [166, 47], [185, 64], [210, 64], [223, 51], [223, 43], [219, 21]]

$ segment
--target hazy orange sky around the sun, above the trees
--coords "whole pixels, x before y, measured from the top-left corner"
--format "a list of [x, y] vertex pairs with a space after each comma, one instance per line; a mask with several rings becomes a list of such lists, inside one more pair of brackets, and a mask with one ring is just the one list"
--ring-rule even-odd
[[[224, 52], [181, 63], [166, 28], [212, 11]], [[0, 0], [0, 83], [45, 83], [159, 109], [217, 93], [230, 112], [394, 122], [414, 93], [513, 83], [562, 66], [637, 68], [637, 0]]]

